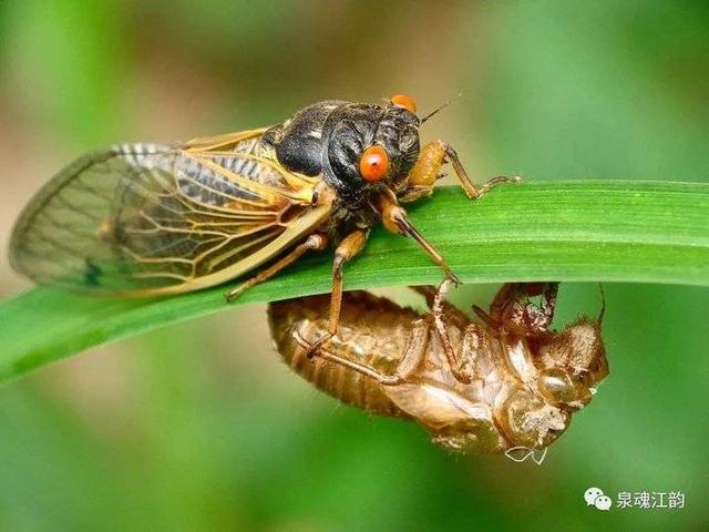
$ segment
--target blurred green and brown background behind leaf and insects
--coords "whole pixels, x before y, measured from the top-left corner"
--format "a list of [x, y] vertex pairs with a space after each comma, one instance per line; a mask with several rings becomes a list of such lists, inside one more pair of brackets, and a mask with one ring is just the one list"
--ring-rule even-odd
[[[7, 265], [12, 221], [80, 153], [326, 98], [404, 92], [425, 112], [462, 92], [422, 135], [479, 180], [707, 181], [708, 28], [689, 1], [6, 0], [0, 295], [29, 286]], [[338, 405], [289, 374], [253, 305], [0, 389], [0, 530], [706, 530], [709, 290], [606, 290], [612, 375], [542, 467], [452, 457]], [[597, 306], [566, 285], [561, 321]], [[686, 508], [600, 512], [590, 485]]]

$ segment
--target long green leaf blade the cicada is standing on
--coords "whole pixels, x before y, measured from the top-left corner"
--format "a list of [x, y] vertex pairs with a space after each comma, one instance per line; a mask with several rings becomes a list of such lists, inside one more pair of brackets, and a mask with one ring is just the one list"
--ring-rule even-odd
[[[469, 201], [442, 187], [410, 206], [464, 283], [605, 280], [709, 286], [709, 184], [547, 182]], [[237, 304], [325, 293], [331, 254], [304, 258]], [[346, 266], [347, 289], [434, 284], [410, 239], [377, 227]], [[160, 299], [92, 298], [38, 287], [0, 305], [0, 382], [107, 341], [230, 308], [225, 287]]]

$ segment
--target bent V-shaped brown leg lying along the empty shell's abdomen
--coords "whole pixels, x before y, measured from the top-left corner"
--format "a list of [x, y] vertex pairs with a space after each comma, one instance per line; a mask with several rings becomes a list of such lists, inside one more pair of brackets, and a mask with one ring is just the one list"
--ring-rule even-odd
[[409, 339], [403, 352], [401, 354], [401, 359], [399, 360], [399, 364], [397, 365], [392, 374], [383, 374], [366, 364], [357, 362], [354, 360], [341, 357], [330, 351], [327, 347], [321, 346], [319, 341], [310, 344], [305, 338], [302, 338], [298, 334], [298, 331], [294, 331], [292, 337], [298, 342], [298, 345], [305, 348], [308, 354], [312, 354], [312, 356], [315, 357], [319, 357], [322, 360], [328, 360], [330, 362], [345, 366], [346, 368], [374, 379], [380, 385], [397, 386], [405, 382], [411, 374], [413, 374], [413, 371], [415, 371], [415, 369], [420, 366], [429, 344], [430, 328], [430, 317], [420, 318], [413, 323]]

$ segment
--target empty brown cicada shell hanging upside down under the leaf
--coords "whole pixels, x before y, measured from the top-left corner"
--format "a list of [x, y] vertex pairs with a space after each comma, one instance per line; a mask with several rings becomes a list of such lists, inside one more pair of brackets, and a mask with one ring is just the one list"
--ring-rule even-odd
[[271, 303], [275, 347], [327, 393], [413, 419], [449, 450], [514, 459], [546, 449], [608, 375], [603, 310], [554, 331], [558, 284], [506, 284], [490, 311], [474, 307], [481, 320], [473, 321], [445, 301], [449, 285], [418, 288], [427, 314], [366, 291], [345, 294], [339, 330], [314, 360], [307, 354], [327, 335], [328, 298]]

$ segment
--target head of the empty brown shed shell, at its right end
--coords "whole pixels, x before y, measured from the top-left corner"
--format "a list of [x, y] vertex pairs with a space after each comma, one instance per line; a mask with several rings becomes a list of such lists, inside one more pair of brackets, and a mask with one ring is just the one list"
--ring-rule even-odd
[[553, 405], [583, 408], [608, 375], [599, 320], [579, 318], [542, 342], [537, 356], [537, 385]]

